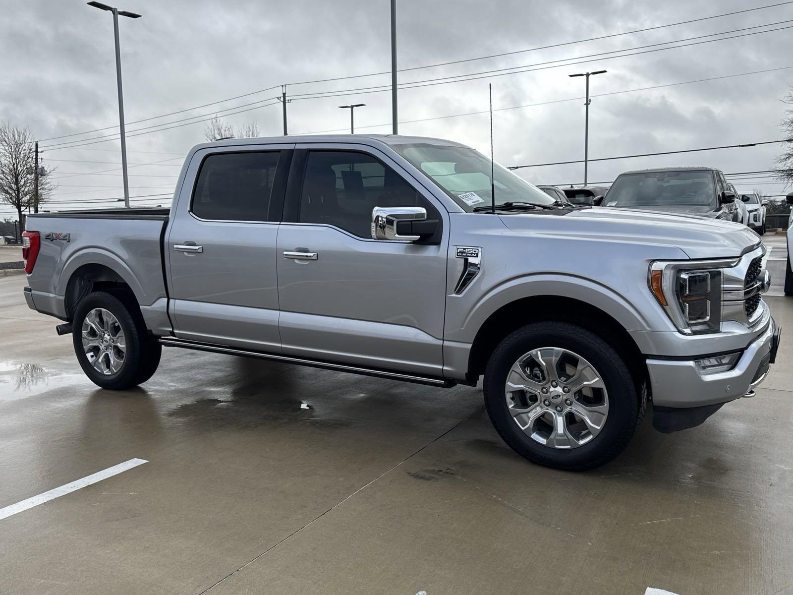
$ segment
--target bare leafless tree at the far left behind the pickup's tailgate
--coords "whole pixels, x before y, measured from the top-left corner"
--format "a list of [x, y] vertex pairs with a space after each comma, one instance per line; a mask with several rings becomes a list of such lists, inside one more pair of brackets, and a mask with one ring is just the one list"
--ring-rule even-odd
[[19, 225], [24, 228], [23, 213], [50, 198], [55, 186], [48, 178], [43, 163], [39, 165], [38, 197], [36, 197], [35, 140], [29, 128], [0, 122], [0, 202], [17, 209]]

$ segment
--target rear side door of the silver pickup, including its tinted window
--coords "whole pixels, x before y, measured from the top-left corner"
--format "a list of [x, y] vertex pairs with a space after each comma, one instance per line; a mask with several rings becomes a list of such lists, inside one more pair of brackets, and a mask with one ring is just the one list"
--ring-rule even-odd
[[180, 339], [281, 350], [275, 243], [293, 146], [193, 155], [165, 242]]

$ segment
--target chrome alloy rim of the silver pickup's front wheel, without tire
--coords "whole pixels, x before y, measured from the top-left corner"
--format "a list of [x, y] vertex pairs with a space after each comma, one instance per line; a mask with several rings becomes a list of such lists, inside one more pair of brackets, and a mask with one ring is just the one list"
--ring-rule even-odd
[[522, 355], [507, 375], [507, 407], [532, 440], [577, 448], [595, 438], [608, 417], [600, 373], [573, 351], [540, 347]]

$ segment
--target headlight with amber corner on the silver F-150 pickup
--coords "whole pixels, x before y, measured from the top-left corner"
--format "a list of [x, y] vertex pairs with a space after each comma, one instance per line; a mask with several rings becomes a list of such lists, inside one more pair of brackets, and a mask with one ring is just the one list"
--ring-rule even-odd
[[722, 267], [734, 261], [656, 262], [649, 288], [677, 329], [686, 335], [719, 332], [722, 326]]

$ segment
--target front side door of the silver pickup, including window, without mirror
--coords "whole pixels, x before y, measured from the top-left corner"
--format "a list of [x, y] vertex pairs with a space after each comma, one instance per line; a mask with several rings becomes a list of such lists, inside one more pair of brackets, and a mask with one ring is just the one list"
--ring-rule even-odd
[[[278, 232], [282, 349], [440, 376], [446, 214], [387, 155], [367, 151], [296, 151], [293, 172], [305, 175], [294, 188], [290, 180]], [[439, 244], [373, 240], [376, 206], [423, 206], [442, 221]]]

